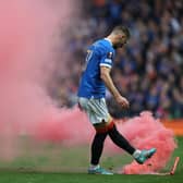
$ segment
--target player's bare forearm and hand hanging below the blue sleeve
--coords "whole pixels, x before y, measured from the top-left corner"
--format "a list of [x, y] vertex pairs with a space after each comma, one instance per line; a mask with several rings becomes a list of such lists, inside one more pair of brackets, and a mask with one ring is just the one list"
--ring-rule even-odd
[[111, 71], [111, 68], [101, 65], [100, 66], [100, 78], [103, 81], [106, 87], [112, 94], [117, 102], [123, 108], [129, 108], [129, 101], [124, 97], [121, 96], [121, 94], [114, 86], [113, 81], [110, 76], [110, 71]]

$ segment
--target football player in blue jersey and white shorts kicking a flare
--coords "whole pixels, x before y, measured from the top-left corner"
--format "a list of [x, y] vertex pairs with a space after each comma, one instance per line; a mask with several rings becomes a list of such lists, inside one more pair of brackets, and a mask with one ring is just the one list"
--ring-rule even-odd
[[99, 166], [106, 137], [127, 151], [138, 163], [144, 163], [155, 152], [156, 148], [139, 150], [134, 148], [115, 127], [106, 105], [106, 87], [122, 108], [129, 108], [127, 99], [119, 93], [110, 76], [115, 49], [122, 48], [130, 38], [130, 32], [124, 26], [117, 26], [111, 34], [88, 47], [86, 65], [78, 87], [78, 106], [84, 110], [96, 130], [91, 144], [91, 159], [88, 168], [90, 174], [113, 174]]

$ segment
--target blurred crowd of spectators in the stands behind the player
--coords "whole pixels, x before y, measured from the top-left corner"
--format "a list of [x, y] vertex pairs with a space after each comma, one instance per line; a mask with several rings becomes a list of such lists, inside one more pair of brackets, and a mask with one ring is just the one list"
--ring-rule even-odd
[[87, 46], [110, 33], [114, 25], [130, 28], [131, 39], [118, 51], [112, 78], [131, 103], [118, 108], [107, 93], [109, 110], [115, 118], [150, 110], [158, 118], [183, 117], [183, 1], [182, 0], [90, 0], [84, 14], [71, 25], [68, 49], [69, 75], [60, 78], [60, 106], [76, 103], [82, 64]]

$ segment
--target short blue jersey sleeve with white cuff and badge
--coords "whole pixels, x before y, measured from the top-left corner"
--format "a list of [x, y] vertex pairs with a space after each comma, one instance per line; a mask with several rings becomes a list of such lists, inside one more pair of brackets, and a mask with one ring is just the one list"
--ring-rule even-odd
[[112, 68], [113, 52], [106, 51], [100, 59], [100, 66]]

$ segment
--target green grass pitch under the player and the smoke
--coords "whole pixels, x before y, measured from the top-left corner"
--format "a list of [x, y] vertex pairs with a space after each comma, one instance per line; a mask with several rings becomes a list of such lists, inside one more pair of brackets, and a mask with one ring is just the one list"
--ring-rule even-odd
[[[173, 157], [182, 157], [183, 137], [178, 137], [178, 144]], [[32, 151], [30, 146], [25, 149], [24, 156], [13, 161], [1, 160], [0, 183], [181, 183], [183, 180], [182, 158], [174, 175], [89, 175], [84, 173], [88, 164], [88, 147], [61, 150], [59, 146], [50, 144], [38, 148], [36, 152]], [[120, 167], [130, 160], [131, 157], [126, 155], [112, 158], [105, 156], [102, 164], [107, 168]], [[168, 171], [171, 163], [163, 171]]]

